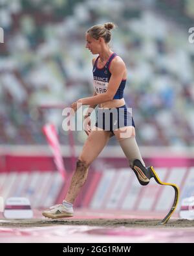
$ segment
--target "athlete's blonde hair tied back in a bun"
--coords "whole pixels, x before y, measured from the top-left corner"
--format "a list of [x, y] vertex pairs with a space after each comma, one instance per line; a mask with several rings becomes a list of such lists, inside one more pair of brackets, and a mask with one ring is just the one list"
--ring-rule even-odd
[[113, 22], [107, 22], [103, 25], [92, 26], [87, 33], [96, 40], [102, 37], [105, 40], [105, 43], [109, 43], [111, 41], [111, 29], [114, 29], [115, 27], [116, 25], [114, 25]]

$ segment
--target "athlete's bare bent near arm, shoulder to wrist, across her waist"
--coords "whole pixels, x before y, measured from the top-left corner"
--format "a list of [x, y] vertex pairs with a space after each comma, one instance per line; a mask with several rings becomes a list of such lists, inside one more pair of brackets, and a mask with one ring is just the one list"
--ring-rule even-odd
[[124, 76], [124, 62], [120, 58], [114, 58], [111, 63], [110, 71], [111, 79], [109, 80], [107, 92], [92, 97], [85, 97], [83, 99], [79, 99], [77, 102], [81, 103], [82, 105], [98, 105], [106, 101], [111, 101], [116, 94], [118, 86], [120, 85]]

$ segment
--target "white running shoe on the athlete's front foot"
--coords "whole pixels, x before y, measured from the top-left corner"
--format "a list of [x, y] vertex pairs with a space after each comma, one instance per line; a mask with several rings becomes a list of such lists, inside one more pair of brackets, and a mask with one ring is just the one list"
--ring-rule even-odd
[[64, 205], [53, 205], [50, 209], [42, 212], [43, 216], [47, 218], [68, 218], [74, 216], [72, 207], [65, 207]]

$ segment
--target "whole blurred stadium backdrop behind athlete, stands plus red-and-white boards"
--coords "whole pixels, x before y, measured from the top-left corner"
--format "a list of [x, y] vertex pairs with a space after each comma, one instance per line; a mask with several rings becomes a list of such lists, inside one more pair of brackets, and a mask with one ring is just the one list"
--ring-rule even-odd
[[[125, 101], [146, 165], [194, 195], [194, 27], [192, 0], [0, 0], [0, 196], [40, 209], [61, 202], [87, 136], [63, 131], [64, 105], [92, 95], [85, 31], [113, 21], [112, 49], [127, 65]], [[81, 117], [80, 117], [81, 118]], [[42, 127], [53, 123], [67, 177], [57, 171]], [[143, 188], [111, 138], [94, 161], [76, 207], [167, 211], [170, 188]], [[180, 204], [178, 206], [180, 209]]]

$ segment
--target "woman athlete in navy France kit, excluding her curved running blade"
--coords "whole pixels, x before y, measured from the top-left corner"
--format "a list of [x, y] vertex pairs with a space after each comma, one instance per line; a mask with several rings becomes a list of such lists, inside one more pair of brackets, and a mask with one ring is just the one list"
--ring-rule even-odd
[[136, 144], [133, 117], [125, 106], [126, 66], [122, 58], [109, 47], [111, 30], [114, 27], [114, 23], [94, 25], [85, 34], [86, 48], [92, 55], [98, 55], [92, 60], [94, 94], [92, 97], [79, 99], [72, 103], [71, 107], [76, 111], [78, 105], [89, 105], [84, 118], [90, 121], [91, 110], [98, 105], [98, 117], [96, 125], [92, 129], [89, 127], [85, 130], [88, 138], [78, 157], [76, 170], [63, 203], [43, 211], [45, 217], [73, 216], [73, 203], [85, 184], [89, 166], [98, 157], [111, 136], [116, 136], [140, 184], [147, 185], [151, 178], [150, 170], [146, 168]]

